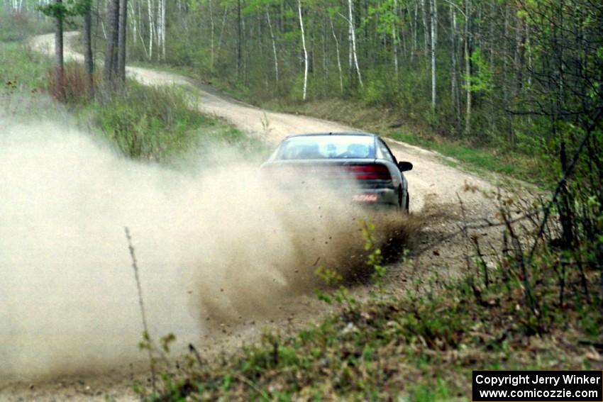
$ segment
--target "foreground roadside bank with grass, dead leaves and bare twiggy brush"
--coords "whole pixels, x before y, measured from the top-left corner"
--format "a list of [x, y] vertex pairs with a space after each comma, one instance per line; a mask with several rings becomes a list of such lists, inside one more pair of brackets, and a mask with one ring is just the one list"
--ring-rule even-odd
[[[216, 362], [192, 354], [163, 372], [148, 400], [467, 401], [476, 369], [603, 369], [600, 240], [585, 230], [603, 222], [600, 204], [585, 206], [594, 220], [575, 220], [574, 247], [567, 248], [559, 245], [556, 217], [543, 217], [531, 201], [490, 196], [506, 230], [494, 243], [485, 228], [463, 223], [458, 247], [467, 247], [467, 269], [460, 278], [417, 269], [405, 254], [413, 272], [406, 294], [381, 287], [381, 275], [360, 301], [342, 286], [321, 292], [337, 308], [319, 324], [292, 337], [266, 332]], [[511, 222], [522, 213], [531, 219]], [[534, 235], [541, 222], [542, 237]], [[377, 274], [374, 230], [367, 226], [363, 238]]]

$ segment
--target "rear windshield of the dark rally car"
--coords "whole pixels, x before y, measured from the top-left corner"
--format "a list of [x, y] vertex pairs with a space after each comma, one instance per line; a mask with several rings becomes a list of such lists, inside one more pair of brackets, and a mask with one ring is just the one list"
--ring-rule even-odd
[[287, 138], [277, 159], [361, 159], [375, 158], [375, 139], [370, 135], [303, 135]]

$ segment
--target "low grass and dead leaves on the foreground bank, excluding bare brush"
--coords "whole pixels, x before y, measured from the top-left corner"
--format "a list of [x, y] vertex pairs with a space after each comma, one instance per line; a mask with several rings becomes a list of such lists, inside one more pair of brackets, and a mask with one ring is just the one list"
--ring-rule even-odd
[[534, 336], [515, 311], [521, 303], [519, 286], [477, 301], [467, 282], [352, 303], [294, 337], [265, 333], [231, 359], [191, 359], [188, 369], [165, 372], [149, 399], [467, 401], [475, 369], [603, 368], [600, 354], [580, 346], [593, 339], [581, 325], [592, 311], [558, 310]]

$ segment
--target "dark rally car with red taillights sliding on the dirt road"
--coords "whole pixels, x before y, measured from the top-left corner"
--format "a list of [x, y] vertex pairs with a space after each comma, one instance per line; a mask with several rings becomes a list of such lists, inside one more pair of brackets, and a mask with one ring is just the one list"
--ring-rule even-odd
[[409, 210], [404, 173], [410, 162], [398, 162], [387, 144], [374, 134], [325, 133], [285, 138], [262, 164], [271, 177], [294, 174], [290, 187], [313, 180], [358, 203], [396, 206]]

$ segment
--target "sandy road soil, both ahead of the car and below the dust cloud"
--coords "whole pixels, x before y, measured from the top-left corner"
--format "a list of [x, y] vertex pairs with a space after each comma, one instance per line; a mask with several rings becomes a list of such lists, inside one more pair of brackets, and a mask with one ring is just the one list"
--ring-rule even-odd
[[[70, 42], [77, 33], [67, 33]], [[52, 53], [54, 36], [40, 35], [31, 41], [31, 47], [40, 52]], [[65, 49], [67, 60], [81, 61], [82, 55], [74, 52], [68, 46]], [[194, 88], [197, 95], [197, 107], [204, 113], [219, 116], [236, 127], [262, 135], [270, 143], [278, 143], [287, 135], [296, 133], [319, 132], [354, 132], [358, 131], [339, 123], [323, 121], [306, 116], [288, 113], [265, 111], [240, 101], [229, 99], [228, 96], [217, 94], [216, 91], [200, 87], [186, 77], [166, 72], [157, 72], [140, 67], [128, 67], [130, 77], [148, 85], [184, 85]], [[463, 191], [465, 184], [480, 189], [492, 190], [494, 185], [480, 177], [450, 167], [445, 158], [434, 152], [423, 150], [395, 140], [387, 139], [387, 143], [398, 160], [406, 160], [414, 164], [414, 169], [406, 173], [411, 194], [411, 213], [421, 219], [421, 231], [413, 239], [414, 264], [405, 267], [394, 267], [394, 274], [389, 277], [389, 289], [392, 291], [407, 289], [412, 279], [417, 275], [438, 272], [443, 275], [455, 275], [465, 267], [462, 258], [465, 244], [458, 237], [450, 238], [458, 231], [461, 211], [458, 198], [463, 199], [467, 219], [471, 221], [482, 218], [492, 218], [495, 208], [492, 202], [486, 200], [479, 191]], [[484, 238], [495, 238], [496, 230], [483, 230]], [[362, 292], [363, 290], [360, 290]], [[207, 336], [211, 339], [211, 350], [228, 350], [239, 345], [242, 340], [257, 338], [265, 325], [275, 326], [285, 331], [294, 330], [316, 318], [317, 308], [324, 310], [323, 305], [313, 296], [300, 296], [299, 307], [284, 307], [275, 313], [271, 320], [265, 323], [241, 323], [233, 327], [217, 328], [214, 334]], [[206, 353], [211, 354], [210, 350]], [[59, 400], [99, 400], [107, 396], [114, 400], [135, 400], [137, 397], [131, 390], [133, 381], [147, 381], [140, 373], [144, 367], [141, 364], [116, 367], [111, 372], [88, 373], [82, 376], [64, 378], [28, 379], [0, 381], [0, 400], [4, 401], [59, 401]]]

